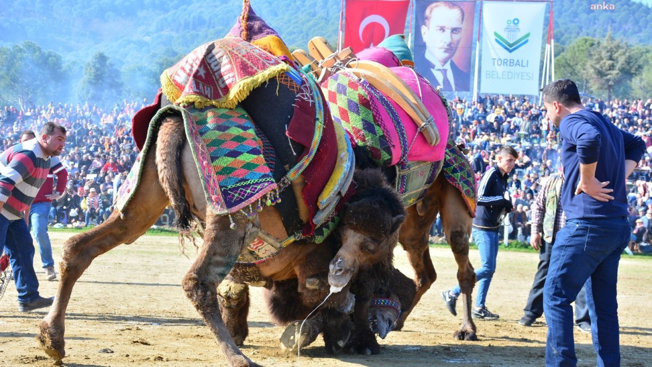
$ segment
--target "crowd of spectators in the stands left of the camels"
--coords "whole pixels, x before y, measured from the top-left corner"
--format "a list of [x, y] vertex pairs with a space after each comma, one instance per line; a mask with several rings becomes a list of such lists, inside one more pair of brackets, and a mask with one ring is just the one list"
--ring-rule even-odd
[[117, 187], [126, 178], [138, 150], [131, 119], [145, 101], [123, 101], [103, 110], [90, 104], [49, 103], [0, 110], [2, 150], [17, 144], [25, 130], [40, 131], [47, 121], [67, 129], [66, 149], [59, 156], [68, 171], [65, 195], [53, 202], [50, 225], [84, 227], [102, 223], [113, 210]]

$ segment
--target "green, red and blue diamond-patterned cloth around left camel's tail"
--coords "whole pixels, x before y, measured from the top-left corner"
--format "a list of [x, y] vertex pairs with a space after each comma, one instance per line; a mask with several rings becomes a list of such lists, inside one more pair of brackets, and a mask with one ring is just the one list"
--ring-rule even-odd
[[120, 188], [119, 210], [123, 211], [134, 195], [140, 182], [140, 163], [153, 143], [160, 121], [171, 112], [183, 117], [206, 201], [215, 214], [226, 215], [246, 207], [246, 212], [252, 212], [254, 205], [261, 206], [263, 195], [269, 194], [265, 202], [270, 204], [278, 197], [276, 182], [261, 152], [261, 141], [242, 108], [230, 110], [210, 106], [197, 109], [172, 105], [161, 108], [152, 119], [145, 146], [127, 182]]

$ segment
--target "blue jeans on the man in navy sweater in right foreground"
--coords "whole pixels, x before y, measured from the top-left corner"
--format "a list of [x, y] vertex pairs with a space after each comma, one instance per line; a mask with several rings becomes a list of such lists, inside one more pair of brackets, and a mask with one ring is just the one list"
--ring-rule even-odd
[[[629, 240], [627, 217], [571, 219], [557, 233], [544, 286], [546, 366], [576, 366], [571, 302], [586, 290], [597, 366], [620, 366], [616, 283]], [[599, 307], [596, 308], [596, 304]]]

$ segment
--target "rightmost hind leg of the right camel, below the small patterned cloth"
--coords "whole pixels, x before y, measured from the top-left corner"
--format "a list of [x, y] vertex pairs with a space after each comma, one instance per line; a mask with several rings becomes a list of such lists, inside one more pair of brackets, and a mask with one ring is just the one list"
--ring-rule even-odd
[[460, 191], [446, 180], [442, 182], [438, 200], [441, 203], [441, 223], [458, 266], [457, 279], [462, 290], [462, 325], [453, 337], [457, 340], [478, 340], [471, 319], [471, 292], [475, 285], [475, 272], [469, 262], [469, 234], [473, 217], [469, 214]]

